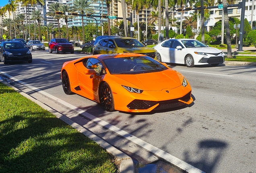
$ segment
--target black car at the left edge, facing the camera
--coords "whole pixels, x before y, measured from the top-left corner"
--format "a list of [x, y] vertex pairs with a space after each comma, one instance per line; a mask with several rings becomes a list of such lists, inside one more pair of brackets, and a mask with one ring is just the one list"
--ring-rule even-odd
[[32, 54], [22, 42], [10, 41], [0, 43], [0, 61], [4, 64], [16, 61], [32, 62]]

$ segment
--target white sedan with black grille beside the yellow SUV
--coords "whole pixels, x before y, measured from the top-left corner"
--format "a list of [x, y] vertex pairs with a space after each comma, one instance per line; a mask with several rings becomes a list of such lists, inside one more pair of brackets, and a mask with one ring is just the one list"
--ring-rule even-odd
[[186, 64], [187, 67], [211, 64], [217, 66], [225, 63], [223, 51], [207, 46], [195, 39], [170, 39], [156, 46], [157, 60], [176, 64]]

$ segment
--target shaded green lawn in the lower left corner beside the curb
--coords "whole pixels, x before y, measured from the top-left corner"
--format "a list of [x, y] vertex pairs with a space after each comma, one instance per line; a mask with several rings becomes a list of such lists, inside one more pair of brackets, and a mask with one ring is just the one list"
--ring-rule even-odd
[[0, 105], [0, 172], [117, 172], [105, 149], [1, 82]]

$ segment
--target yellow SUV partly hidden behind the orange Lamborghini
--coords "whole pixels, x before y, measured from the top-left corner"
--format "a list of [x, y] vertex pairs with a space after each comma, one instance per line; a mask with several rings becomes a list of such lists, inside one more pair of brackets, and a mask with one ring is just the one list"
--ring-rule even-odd
[[93, 47], [93, 54], [111, 54], [133, 52], [155, 58], [156, 50], [149, 48], [131, 37], [107, 37], [99, 40]]

